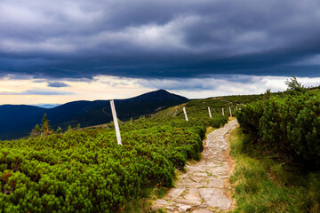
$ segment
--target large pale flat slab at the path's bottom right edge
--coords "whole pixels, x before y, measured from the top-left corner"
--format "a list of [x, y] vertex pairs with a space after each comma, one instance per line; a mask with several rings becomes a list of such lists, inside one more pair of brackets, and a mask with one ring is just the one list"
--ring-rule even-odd
[[199, 189], [201, 197], [209, 207], [218, 207], [219, 209], [229, 209], [231, 200], [224, 194], [222, 189], [217, 188], [201, 188]]

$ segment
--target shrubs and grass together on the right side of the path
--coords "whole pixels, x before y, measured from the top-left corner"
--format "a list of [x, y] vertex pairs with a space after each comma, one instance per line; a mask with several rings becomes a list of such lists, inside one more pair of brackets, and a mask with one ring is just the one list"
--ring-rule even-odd
[[292, 76], [236, 113], [236, 212], [320, 211], [320, 93]]

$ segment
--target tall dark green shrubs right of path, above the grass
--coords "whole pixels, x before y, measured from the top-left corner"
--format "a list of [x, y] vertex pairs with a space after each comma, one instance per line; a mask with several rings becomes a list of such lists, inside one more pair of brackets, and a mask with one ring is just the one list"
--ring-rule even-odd
[[237, 113], [244, 130], [268, 147], [270, 154], [320, 169], [320, 93], [306, 91], [272, 96], [248, 104]]

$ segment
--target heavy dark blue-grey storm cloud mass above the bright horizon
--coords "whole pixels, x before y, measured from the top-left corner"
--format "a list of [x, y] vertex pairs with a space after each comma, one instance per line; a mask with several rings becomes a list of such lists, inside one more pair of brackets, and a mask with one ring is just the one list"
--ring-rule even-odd
[[0, 70], [36, 77], [319, 76], [320, 2], [0, 3]]

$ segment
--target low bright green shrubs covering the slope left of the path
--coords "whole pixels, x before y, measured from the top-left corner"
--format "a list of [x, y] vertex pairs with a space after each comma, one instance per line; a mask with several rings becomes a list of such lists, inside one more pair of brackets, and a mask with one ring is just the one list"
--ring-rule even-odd
[[[148, 119], [120, 122], [123, 146], [116, 143], [113, 123], [107, 128], [49, 134], [46, 116], [39, 128], [42, 136], [0, 141], [1, 211], [146, 208], [144, 197], [159, 196], [163, 186], [172, 185], [175, 170], [182, 170], [188, 160], [199, 160], [206, 127], [219, 128], [228, 121], [220, 110], [209, 118], [207, 106], [217, 111], [218, 106], [188, 104], [188, 122], [182, 106]], [[140, 206], [132, 205], [141, 198]]]

